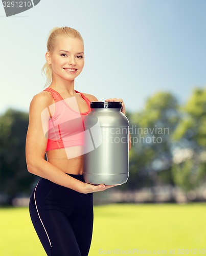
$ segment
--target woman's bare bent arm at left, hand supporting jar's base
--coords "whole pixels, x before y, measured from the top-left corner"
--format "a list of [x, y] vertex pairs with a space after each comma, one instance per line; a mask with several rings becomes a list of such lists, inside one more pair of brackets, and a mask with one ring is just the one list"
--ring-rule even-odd
[[47, 138], [44, 136], [43, 126], [49, 121], [49, 114], [41, 114], [47, 106], [51, 105], [51, 96], [47, 92], [42, 92], [34, 96], [30, 104], [29, 126], [26, 140], [26, 161], [28, 171], [39, 177], [48, 179], [56, 184], [74, 189], [80, 193], [92, 193], [102, 191], [112, 186], [100, 184], [98, 186], [81, 182], [57, 168], [50, 162], [44, 160], [47, 148]]

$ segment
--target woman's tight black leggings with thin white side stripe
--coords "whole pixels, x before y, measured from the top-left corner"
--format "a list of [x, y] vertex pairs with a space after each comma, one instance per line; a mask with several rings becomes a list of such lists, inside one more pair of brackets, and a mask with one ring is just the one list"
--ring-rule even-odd
[[[82, 175], [69, 175], [84, 182]], [[93, 232], [93, 193], [82, 194], [41, 178], [31, 195], [29, 210], [47, 255], [88, 255]]]

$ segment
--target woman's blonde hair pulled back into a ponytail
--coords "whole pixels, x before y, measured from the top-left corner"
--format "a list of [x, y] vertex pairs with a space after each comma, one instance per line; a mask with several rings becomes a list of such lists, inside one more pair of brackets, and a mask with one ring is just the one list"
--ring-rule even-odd
[[[50, 30], [48, 41], [47, 41], [47, 51], [52, 53], [55, 48], [56, 38], [58, 36], [70, 36], [73, 38], [79, 38], [82, 43], [84, 44], [83, 38], [81, 34], [73, 28], [70, 27], [55, 27], [52, 30]], [[47, 81], [45, 82], [44, 87], [47, 87], [52, 82], [52, 68], [51, 65], [49, 65], [47, 62], [43, 65], [41, 69], [41, 74], [44, 73], [47, 77]]]

